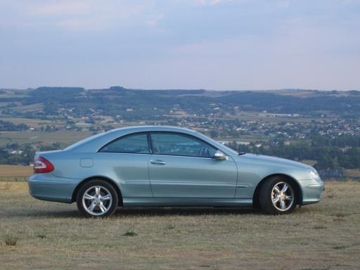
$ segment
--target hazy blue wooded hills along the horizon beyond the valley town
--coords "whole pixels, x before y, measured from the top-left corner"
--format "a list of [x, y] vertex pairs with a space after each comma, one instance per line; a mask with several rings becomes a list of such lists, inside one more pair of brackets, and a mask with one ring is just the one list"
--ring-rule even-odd
[[[13, 95], [11, 95], [13, 93]], [[32, 105], [43, 103], [39, 111], [23, 112], [26, 117], [53, 115], [59, 110], [72, 110], [76, 116], [96, 110], [102, 115], [157, 117], [178, 110], [191, 114], [234, 114], [235, 110], [319, 116], [324, 113], [340, 117], [360, 116], [359, 91], [314, 91], [282, 89], [278, 91], [207, 91], [143, 90], [112, 86], [108, 89], [82, 87], [39, 87], [19, 91], [2, 90], [0, 102]], [[10, 106], [11, 107], [11, 106]], [[10, 108], [9, 107], [9, 108]], [[154, 111], [155, 108], [155, 111]], [[11, 110], [9, 110], [11, 113]]]

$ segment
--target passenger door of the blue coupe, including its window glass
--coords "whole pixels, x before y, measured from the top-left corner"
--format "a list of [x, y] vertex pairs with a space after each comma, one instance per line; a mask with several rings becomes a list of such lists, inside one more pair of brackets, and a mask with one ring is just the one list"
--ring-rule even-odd
[[154, 198], [234, 198], [235, 162], [214, 159], [217, 148], [195, 136], [151, 132], [148, 169]]

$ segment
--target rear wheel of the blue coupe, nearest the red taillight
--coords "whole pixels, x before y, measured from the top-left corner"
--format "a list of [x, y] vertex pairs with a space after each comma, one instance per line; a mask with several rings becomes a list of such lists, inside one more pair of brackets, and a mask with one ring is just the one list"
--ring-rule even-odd
[[119, 198], [113, 185], [104, 180], [91, 180], [77, 192], [77, 209], [84, 217], [110, 217]]

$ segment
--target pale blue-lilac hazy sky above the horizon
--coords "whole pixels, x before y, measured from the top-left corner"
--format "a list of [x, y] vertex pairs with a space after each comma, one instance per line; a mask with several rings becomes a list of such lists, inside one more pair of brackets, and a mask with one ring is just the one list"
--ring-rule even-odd
[[360, 0], [0, 0], [0, 88], [360, 90]]

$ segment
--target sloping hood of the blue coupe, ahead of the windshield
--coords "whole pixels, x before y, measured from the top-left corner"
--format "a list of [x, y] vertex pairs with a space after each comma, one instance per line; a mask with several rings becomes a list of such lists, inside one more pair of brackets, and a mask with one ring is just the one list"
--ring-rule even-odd
[[287, 160], [285, 158], [275, 158], [271, 157], [269, 155], [257, 155], [257, 154], [250, 154], [246, 153], [244, 155], [239, 155], [238, 160], [248, 160], [249, 162], [255, 162], [258, 164], [264, 164], [264, 165], [276, 165], [281, 167], [297, 167], [297, 168], [303, 168], [307, 169], [311, 166], [306, 165], [301, 162], [297, 162], [294, 160]]

